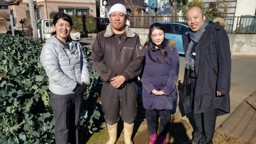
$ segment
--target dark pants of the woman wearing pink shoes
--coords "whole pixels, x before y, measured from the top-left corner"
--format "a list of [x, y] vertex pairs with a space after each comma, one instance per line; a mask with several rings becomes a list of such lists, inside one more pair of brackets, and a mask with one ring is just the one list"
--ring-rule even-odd
[[[157, 110], [146, 110], [146, 122], [149, 129], [150, 134], [155, 134], [156, 129], [156, 111]], [[166, 135], [168, 125], [171, 120], [171, 111], [170, 110], [159, 110], [160, 115], [160, 124], [159, 124], [159, 134]]]

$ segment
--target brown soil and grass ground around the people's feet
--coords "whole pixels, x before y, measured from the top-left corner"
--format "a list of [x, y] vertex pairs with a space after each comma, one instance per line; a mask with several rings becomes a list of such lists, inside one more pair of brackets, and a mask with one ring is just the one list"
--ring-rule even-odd
[[[156, 116], [158, 124], [160, 122], [159, 115]], [[168, 133], [166, 134], [166, 144], [180, 144], [192, 139], [193, 133], [192, 125], [185, 117], [181, 117], [178, 114], [173, 113], [171, 115], [171, 123], [168, 127]], [[102, 128], [100, 132], [82, 135], [82, 144], [105, 144], [108, 141], [107, 128]], [[124, 144], [123, 140], [123, 121], [118, 121], [117, 143]], [[149, 144], [150, 134], [146, 125], [145, 109], [143, 105], [138, 105], [138, 116], [134, 122], [134, 130], [132, 139], [134, 144]], [[234, 135], [224, 133], [220, 130], [215, 130], [213, 144], [254, 144], [255, 141], [247, 141], [240, 139]]]

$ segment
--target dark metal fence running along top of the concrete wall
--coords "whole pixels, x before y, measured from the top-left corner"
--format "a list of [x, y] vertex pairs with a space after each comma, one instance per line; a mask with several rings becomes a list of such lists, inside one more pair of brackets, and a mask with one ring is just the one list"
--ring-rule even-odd
[[[213, 21], [217, 17], [206, 17], [208, 20]], [[231, 33], [256, 33], [256, 16], [226, 16], [220, 17], [226, 23], [225, 30]], [[183, 16], [128, 16], [130, 21], [130, 27], [137, 28], [149, 28], [151, 22], [180, 22], [186, 23], [186, 19]], [[236, 30], [233, 31], [234, 22], [236, 23]]]

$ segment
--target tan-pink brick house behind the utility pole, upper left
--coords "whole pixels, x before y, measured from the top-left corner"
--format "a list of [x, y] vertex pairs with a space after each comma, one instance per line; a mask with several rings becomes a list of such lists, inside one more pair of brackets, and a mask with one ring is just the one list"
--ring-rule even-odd
[[[28, 0], [10, 0], [6, 2], [10, 14], [14, 17], [14, 23], [18, 29], [22, 29], [19, 22], [23, 18], [30, 17]], [[34, 0], [36, 19], [49, 19], [51, 11], [60, 11], [69, 15], [93, 15], [96, 16], [95, 0]]]

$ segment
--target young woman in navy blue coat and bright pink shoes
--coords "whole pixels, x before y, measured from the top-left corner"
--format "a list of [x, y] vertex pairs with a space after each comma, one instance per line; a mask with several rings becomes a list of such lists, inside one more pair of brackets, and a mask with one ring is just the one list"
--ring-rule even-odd
[[[150, 132], [150, 144], [165, 144], [170, 123], [170, 110], [177, 107], [176, 83], [179, 73], [179, 54], [176, 41], [164, 38], [165, 29], [160, 23], [150, 26], [149, 41], [143, 47], [145, 66], [142, 75], [143, 107]], [[159, 110], [159, 139], [156, 134], [156, 111]]]

